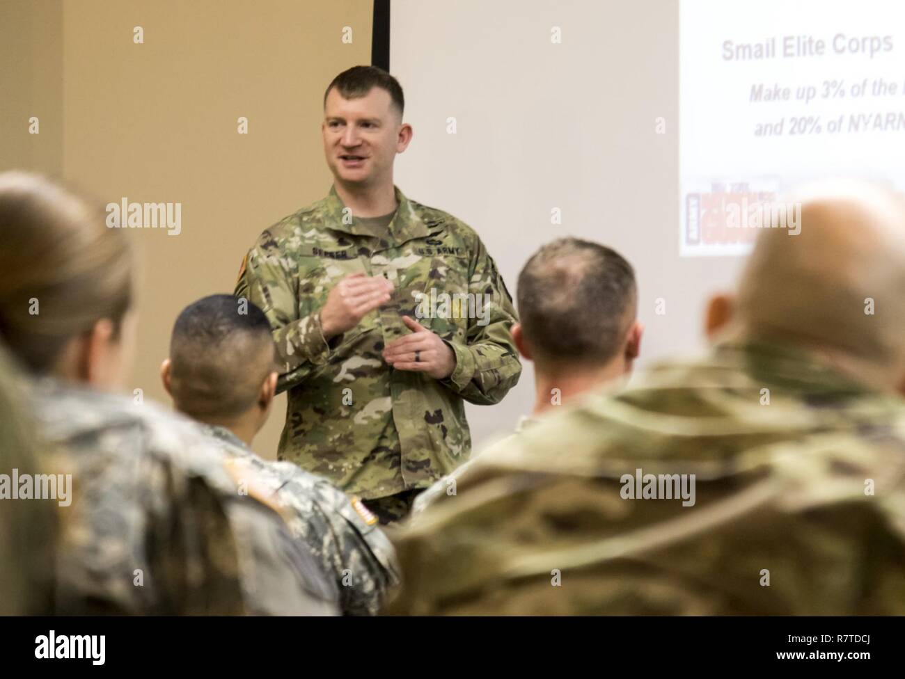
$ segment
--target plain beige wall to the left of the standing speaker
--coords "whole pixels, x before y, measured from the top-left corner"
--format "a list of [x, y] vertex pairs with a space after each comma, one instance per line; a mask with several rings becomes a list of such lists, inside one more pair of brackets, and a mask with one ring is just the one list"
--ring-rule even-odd
[[[51, 174], [62, 169], [65, 180], [102, 203], [123, 196], [182, 203], [179, 235], [127, 231], [142, 261], [138, 356], [129, 389], [168, 404], [157, 367], [176, 314], [197, 297], [232, 293], [258, 234], [327, 193], [321, 97], [339, 71], [370, 62], [373, 3], [34, 5], [4, 5], [2, 18], [12, 21], [0, 22], [0, 41], [16, 42], [6, 43], [3, 56], [28, 56], [22, 60], [27, 70], [3, 69], [3, 84], [11, 82], [29, 105], [0, 118], [0, 138], [8, 138], [10, 128], [27, 131], [26, 109], [46, 110], [52, 124], [42, 118], [45, 146], [19, 137], [8, 143], [4, 166]], [[135, 26], [144, 29], [143, 44], [133, 42]], [[352, 29], [351, 43], [342, 42], [344, 26]], [[54, 63], [55, 75], [48, 66]], [[47, 74], [35, 80], [35, 70]], [[247, 135], [237, 133], [240, 116], [249, 120]], [[54, 139], [57, 148], [48, 155]], [[256, 440], [266, 457], [275, 456], [284, 411], [281, 396]]]

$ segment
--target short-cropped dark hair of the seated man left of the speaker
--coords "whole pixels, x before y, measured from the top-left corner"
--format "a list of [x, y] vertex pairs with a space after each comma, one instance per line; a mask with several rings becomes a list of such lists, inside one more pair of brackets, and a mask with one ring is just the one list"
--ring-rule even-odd
[[211, 295], [183, 309], [170, 338], [176, 408], [198, 420], [233, 418], [252, 407], [276, 370], [264, 312], [244, 297]]

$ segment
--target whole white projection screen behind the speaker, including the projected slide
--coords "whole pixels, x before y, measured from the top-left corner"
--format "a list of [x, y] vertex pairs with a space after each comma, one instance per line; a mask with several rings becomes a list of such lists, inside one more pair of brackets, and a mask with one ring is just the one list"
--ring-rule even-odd
[[[390, 70], [414, 127], [396, 183], [478, 231], [513, 296], [549, 240], [619, 250], [638, 277], [640, 366], [700, 352], [707, 298], [757, 232], [729, 228], [727, 202], [822, 174], [905, 179], [899, 5], [392, 0]], [[500, 405], [469, 407], [475, 447], [533, 399], [526, 362]]]

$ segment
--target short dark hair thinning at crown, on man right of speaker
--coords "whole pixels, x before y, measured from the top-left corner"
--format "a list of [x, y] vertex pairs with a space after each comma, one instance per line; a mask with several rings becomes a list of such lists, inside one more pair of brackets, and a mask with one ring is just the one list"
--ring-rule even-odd
[[536, 360], [600, 364], [619, 351], [637, 311], [634, 271], [615, 250], [562, 238], [519, 273], [519, 320]]

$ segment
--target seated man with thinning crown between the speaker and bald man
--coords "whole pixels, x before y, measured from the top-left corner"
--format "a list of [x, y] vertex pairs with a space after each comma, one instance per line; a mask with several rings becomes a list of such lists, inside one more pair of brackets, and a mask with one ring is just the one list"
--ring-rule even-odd
[[[519, 323], [512, 341], [534, 362], [534, 410], [516, 436], [558, 406], [608, 384], [621, 388], [641, 352], [634, 271], [618, 252], [589, 240], [560, 238], [535, 252], [519, 273]], [[507, 445], [500, 441], [500, 446]], [[472, 457], [414, 501], [412, 514], [456, 495]]]

